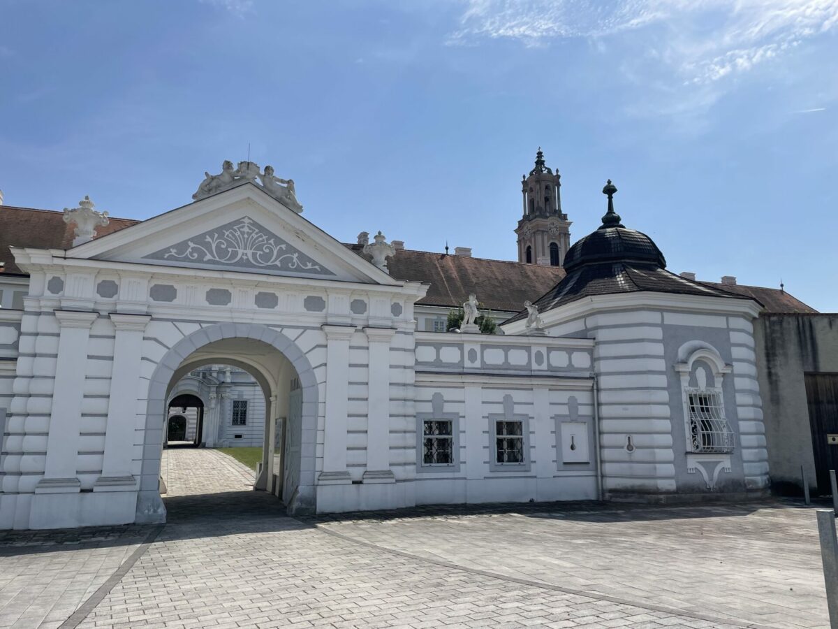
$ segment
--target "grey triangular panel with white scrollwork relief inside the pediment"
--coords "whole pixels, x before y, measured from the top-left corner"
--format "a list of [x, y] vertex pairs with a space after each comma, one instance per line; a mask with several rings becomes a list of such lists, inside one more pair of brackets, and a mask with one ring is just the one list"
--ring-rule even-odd
[[143, 259], [246, 268], [261, 273], [334, 275], [249, 216], [149, 253]]

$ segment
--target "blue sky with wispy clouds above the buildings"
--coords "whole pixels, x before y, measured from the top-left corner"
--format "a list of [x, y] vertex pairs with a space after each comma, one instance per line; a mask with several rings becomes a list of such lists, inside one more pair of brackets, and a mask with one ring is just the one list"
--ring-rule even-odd
[[334, 237], [514, 259], [541, 146], [669, 268], [838, 311], [838, 0], [0, 0], [8, 205], [147, 218], [224, 159]]

